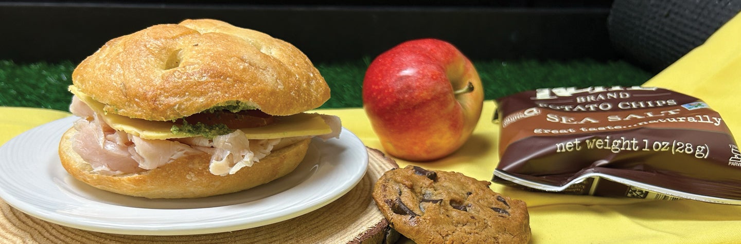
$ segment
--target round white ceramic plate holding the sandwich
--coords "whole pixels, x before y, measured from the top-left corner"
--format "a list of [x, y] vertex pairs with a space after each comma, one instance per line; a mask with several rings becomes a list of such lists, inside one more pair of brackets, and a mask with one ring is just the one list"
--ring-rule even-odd
[[115, 234], [206, 234], [265, 226], [319, 209], [352, 189], [368, 153], [352, 132], [313, 139], [305, 160], [285, 177], [233, 194], [150, 200], [105, 192], [64, 171], [57, 149], [77, 117], [30, 129], [0, 148], [0, 197], [62, 226]]

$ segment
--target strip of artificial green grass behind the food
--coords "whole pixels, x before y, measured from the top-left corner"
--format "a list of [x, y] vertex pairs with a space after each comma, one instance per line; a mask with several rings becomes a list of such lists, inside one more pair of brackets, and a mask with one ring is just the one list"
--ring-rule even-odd
[[[332, 90], [321, 108], [362, 107], [362, 81], [371, 58], [316, 64]], [[542, 87], [635, 86], [654, 74], [625, 61], [473, 61], [484, 85], [485, 99]], [[0, 61], [0, 106], [27, 106], [67, 111], [76, 64]]]

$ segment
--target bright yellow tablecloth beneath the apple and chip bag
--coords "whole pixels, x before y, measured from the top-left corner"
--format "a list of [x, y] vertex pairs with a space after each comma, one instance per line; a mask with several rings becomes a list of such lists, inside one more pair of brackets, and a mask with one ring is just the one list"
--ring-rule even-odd
[[[741, 135], [741, 17], [725, 24], [701, 47], [647, 82], [702, 98], [720, 112], [734, 135]], [[416, 163], [490, 180], [497, 160], [495, 105], [485, 101], [471, 140], [450, 157]], [[362, 109], [324, 109], [365, 145], [382, 149]], [[0, 107], [0, 143], [68, 113]], [[410, 164], [399, 160], [400, 166]], [[691, 200], [662, 201], [524, 192], [493, 184], [492, 189], [525, 200], [531, 216], [531, 243], [740, 243], [741, 206]]]

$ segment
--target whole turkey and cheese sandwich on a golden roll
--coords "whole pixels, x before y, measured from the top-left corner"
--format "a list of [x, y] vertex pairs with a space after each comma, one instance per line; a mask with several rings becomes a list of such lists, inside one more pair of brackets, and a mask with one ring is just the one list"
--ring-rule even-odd
[[307, 112], [330, 89], [304, 53], [213, 19], [113, 38], [73, 71], [59, 143], [77, 180], [147, 198], [250, 189], [296, 169], [339, 118]]

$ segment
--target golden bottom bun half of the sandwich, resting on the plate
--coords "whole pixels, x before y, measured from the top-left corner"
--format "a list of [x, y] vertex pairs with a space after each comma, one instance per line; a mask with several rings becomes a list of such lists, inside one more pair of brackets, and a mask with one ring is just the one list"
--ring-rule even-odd
[[207, 153], [181, 157], [142, 173], [112, 176], [94, 173], [92, 166], [72, 149], [70, 138], [75, 133], [74, 128], [68, 129], [59, 143], [59, 157], [67, 172], [98, 189], [147, 198], [209, 197], [268, 183], [293, 172], [304, 159], [310, 143], [310, 139], [293, 143], [227, 176], [208, 171], [210, 155]]

